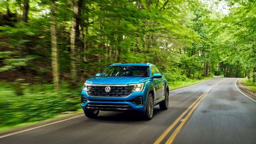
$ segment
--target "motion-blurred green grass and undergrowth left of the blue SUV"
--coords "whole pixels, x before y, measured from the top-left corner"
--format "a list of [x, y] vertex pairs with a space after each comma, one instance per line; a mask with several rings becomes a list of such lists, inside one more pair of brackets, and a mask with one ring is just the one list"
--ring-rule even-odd
[[52, 84], [23, 86], [22, 95], [10, 83], [0, 83], [0, 131], [32, 125], [68, 114], [65, 111], [81, 111], [81, 88], [70, 89], [62, 84], [55, 92]]

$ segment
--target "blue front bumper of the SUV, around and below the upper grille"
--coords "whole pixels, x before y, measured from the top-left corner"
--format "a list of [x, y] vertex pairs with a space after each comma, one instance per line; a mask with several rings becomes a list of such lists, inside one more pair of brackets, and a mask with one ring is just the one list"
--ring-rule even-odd
[[147, 90], [133, 92], [126, 97], [89, 96], [81, 92], [81, 107], [83, 109], [98, 109], [102, 111], [144, 111]]

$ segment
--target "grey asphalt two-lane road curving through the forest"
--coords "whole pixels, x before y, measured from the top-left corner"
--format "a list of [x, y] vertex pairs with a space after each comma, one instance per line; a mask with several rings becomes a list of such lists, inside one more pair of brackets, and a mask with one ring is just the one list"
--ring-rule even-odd
[[0, 138], [0, 144], [255, 144], [256, 102], [217, 78], [170, 92], [169, 109], [151, 121], [127, 112], [100, 111]]

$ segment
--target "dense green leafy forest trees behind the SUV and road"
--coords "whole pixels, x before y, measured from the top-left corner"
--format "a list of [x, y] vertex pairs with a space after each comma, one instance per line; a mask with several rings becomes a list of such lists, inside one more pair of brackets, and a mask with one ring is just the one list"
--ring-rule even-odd
[[1, 0], [0, 78], [77, 86], [113, 63], [158, 65], [171, 83], [256, 74], [256, 8], [200, 0]]

